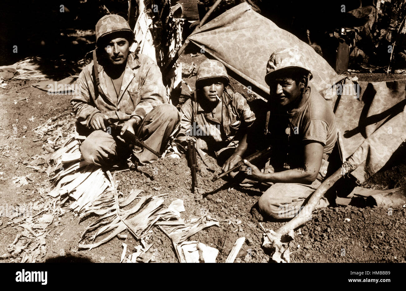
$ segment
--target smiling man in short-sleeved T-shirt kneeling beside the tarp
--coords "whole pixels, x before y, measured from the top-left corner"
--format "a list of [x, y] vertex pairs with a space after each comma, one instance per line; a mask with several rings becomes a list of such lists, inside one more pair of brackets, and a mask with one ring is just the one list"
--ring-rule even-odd
[[[265, 77], [270, 86], [268, 104], [270, 108], [280, 106], [285, 112], [286, 119], [280, 115], [276, 118], [281, 124], [286, 120], [286, 131], [275, 131], [287, 134], [285, 163], [290, 168], [263, 173], [252, 163], [246, 160], [244, 163], [248, 166], [247, 178], [274, 183], [259, 198], [258, 204], [261, 214], [275, 219], [293, 218], [300, 212], [305, 200], [326, 177], [328, 163], [333, 160], [330, 154], [337, 140], [335, 116], [328, 102], [310, 83], [311, 78], [307, 64], [296, 49], [278, 50], [270, 56]], [[279, 126], [269, 125], [269, 131]], [[326, 197], [316, 207], [325, 206], [328, 206]]]

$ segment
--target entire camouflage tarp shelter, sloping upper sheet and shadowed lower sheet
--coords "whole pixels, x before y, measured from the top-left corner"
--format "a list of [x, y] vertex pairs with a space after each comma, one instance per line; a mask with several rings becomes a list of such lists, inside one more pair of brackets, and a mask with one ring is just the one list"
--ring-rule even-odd
[[[279, 48], [297, 47], [311, 65], [313, 85], [335, 109], [345, 157], [356, 168], [351, 174], [358, 182], [382, 168], [406, 139], [406, 80], [356, 84], [343, 80], [344, 76], [337, 75], [307, 43], [246, 3], [203, 25], [188, 39], [224, 63], [232, 76], [251, 85], [261, 96], [269, 93], [264, 77], [270, 54]], [[339, 98], [339, 88], [331, 89], [338, 82], [344, 85]]]

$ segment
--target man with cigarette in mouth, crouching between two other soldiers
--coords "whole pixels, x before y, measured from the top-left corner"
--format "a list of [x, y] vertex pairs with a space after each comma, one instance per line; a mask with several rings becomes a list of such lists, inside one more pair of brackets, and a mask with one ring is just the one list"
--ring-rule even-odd
[[227, 159], [223, 171], [242, 159], [247, 129], [255, 121], [246, 99], [230, 87], [226, 89], [227, 85], [229, 77], [224, 65], [217, 60], [203, 61], [197, 69], [196, 90], [181, 107], [183, 117], [177, 135], [181, 140], [195, 137], [197, 150], [209, 167], [201, 150], [214, 151], [220, 161]]

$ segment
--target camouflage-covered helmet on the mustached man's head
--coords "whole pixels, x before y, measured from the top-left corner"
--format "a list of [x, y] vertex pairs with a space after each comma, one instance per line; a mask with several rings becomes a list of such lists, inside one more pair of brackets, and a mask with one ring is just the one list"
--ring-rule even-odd
[[129, 41], [134, 40], [134, 32], [123, 17], [115, 14], [103, 16], [96, 24], [96, 45], [106, 35], [117, 31], [127, 32], [130, 37]]

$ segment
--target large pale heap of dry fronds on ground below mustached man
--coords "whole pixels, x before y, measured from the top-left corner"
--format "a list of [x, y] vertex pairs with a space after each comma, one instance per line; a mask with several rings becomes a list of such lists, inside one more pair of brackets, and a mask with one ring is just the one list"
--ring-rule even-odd
[[[203, 217], [200, 221], [185, 223], [180, 218], [180, 213], [185, 211], [181, 199], [163, 208], [165, 195], [140, 196], [143, 190], [133, 189], [124, 197], [123, 193], [118, 193], [116, 181], [109, 171], [105, 173], [82, 159], [79, 145], [78, 139], [71, 138], [47, 159], [50, 165], [47, 172], [52, 182], [52, 190], [48, 195], [58, 199], [60, 204], [70, 202], [67, 209], [80, 219], [88, 215], [99, 216], [82, 235], [81, 240], [88, 240], [89, 243], [80, 243], [79, 248], [96, 248], [115, 236], [124, 237], [121, 233], [128, 230], [144, 245], [143, 253], [134, 253], [129, 260], [134, 261], [140, 256], [140, 260], [150, 261], [150, 254], [146, 254], [150, 245], [147, 248], [145, 240], [155, 225], [160, 226], [172, 239], [176, 250], [179, 243], [201, 229], [219, 225], [213, 221], [203, 222]], [[126, 209], [132, 203], [135, 205]], [[102, 235], [103, 239], [96, 241]]]

